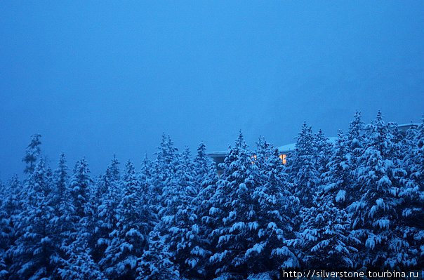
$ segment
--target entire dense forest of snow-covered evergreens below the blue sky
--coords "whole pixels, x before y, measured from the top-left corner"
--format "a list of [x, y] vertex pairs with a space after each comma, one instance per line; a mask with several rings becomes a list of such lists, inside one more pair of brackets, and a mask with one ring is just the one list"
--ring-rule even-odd
[[[93, 177], [41, 136], [1, 183], [0, 279], [277, 279], [281, 269], [424, 266], [424, 119], [406, 133], [357, 112], [335, 143], [303, 124], [281, 164], [240, 133], [218, 177], [201, 143]], [[256, 156], [253, 156], [256, 155]]]

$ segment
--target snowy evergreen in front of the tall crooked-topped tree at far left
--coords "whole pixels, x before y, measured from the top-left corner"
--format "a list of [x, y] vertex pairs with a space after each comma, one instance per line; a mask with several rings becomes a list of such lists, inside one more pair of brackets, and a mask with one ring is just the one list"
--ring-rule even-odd
[[12, 276], [21, 279], [52, 279], [51, 257], [55, 244], [49, 223], [53, 218], [51, 206], [52, 178], [41, 159], [25, 182], [27, 198], [22, 212], [15, 220], [17, 240], [11, 248]]

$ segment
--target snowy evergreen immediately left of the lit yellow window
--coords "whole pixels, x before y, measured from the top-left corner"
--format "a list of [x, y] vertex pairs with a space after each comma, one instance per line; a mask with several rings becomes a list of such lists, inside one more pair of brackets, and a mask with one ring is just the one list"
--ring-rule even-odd
[[246, 251], [249, 272], [277, 273], [279, 269], [298, 267], [298, 259], [285, 241], [293, 238], [294, 209], [299, 200], [290, 192], [278, 150], [263, 138], [258, 141], [255, 164], [260, 170], [260, 184], [253, 192], [253, 203], [258, 204], [258, 235], [253, 236], [253, 246]]

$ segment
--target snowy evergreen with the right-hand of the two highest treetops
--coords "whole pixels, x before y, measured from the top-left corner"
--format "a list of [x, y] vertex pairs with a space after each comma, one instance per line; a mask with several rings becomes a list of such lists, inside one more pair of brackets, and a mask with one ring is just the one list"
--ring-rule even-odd
[[352, 213], [354, 234], [364, 242], [359, 255], [366, 267], [405, 268], [416, 265], [417, 252], [411, 248], [403, 227], [399, 227], [399, 159], [392, 154], [394, 136], [381, 112], [368, 126], [369, 142], [359, 157], [357, 178], [361, 197], [348, 210]]

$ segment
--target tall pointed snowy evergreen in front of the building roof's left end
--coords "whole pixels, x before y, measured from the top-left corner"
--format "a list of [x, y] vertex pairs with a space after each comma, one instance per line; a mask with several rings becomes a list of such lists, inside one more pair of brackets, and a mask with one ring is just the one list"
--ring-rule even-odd
[[235, 279], [246, 277], [249, 271], [250, 258], [246, 258], [246, 253], [253, 248], [253, 236], [258, 236], [258, 204], [252, 196], [260, 184], [252, 155], [240, 132], [225, 158], [224, 172], [213, 196], [210, 214], [219, 224], [211, 232], [216, 250], [210, 261], [218, 266], [218, 276], [231, 273]]

